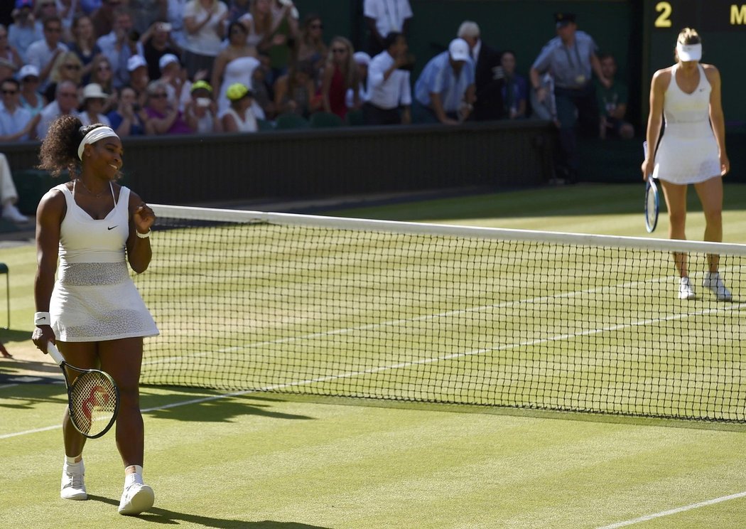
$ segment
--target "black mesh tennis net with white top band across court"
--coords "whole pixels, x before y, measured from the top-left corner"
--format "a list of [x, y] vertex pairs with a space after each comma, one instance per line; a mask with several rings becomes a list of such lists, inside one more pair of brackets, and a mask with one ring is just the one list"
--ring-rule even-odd
[[143, 384], [745, 420], [746, 245], [154, 210]]

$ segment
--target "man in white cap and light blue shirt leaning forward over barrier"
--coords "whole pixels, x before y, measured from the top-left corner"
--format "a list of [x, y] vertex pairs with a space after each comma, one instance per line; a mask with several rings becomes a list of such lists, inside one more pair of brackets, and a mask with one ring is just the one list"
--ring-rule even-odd
[[474, 62], [468, 43], [451, 40], [448, 50], [430, 59], [417, 79], [413, 121], [457, 125], [471, 113], [474, 92]]

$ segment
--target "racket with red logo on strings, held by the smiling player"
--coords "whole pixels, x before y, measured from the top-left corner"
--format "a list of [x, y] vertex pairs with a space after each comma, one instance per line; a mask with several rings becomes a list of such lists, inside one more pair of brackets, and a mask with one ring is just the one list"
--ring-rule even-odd
[[[119, 388], [114, 379], [98, 369], [78, 369], [71, 366], [52, 342], [48, 342], [47, 352], [65, 376], [67, 409], [75, 430], [90, 439], [107, 433], [119, 412]], [[72, 383], [68, 372], [78, 374]]]

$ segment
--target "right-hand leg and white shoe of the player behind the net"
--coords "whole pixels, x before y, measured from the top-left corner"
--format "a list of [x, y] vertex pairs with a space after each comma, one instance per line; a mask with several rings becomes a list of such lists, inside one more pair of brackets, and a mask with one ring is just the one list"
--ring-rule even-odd
[[[697, 190], [704, 212], [704, 240], [721, 242], [723, 240], [723, 180], [719, 176], [709, 178], [709, 180], [695, 184], [695, 190]], [[710, 289], [718, 300], [730, 301], [732, 298], [730, 290], [727, 289], [718, 273], [720, 256], [708, 254], [707, 265], [708, 270], [705, 272], [702, 286]]]

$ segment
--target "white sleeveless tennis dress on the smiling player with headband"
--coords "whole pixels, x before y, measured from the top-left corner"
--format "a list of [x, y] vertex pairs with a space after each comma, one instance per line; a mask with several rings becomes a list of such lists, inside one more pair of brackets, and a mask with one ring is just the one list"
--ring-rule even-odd
[[75, 203], [65, 184], [54, 189], [65, 195], [67, 204], [57, 281], [49, 300], [55, 337], [63, 342], [98, 342], [156, 336], [158, 328], [125, 261], [130, 190], [122, 187], [113, 210], [96, 220]]

